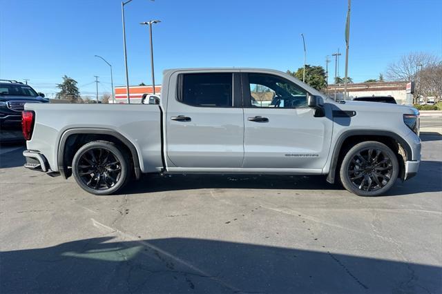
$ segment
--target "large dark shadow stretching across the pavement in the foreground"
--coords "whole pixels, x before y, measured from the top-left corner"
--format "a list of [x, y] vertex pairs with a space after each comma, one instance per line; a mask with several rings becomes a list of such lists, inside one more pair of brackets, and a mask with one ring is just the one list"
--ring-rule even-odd
[[[283, 237], [283, 236], [279, 236]], [[96, 237], [3, 251], [1, 293], [441, 293], [442, 268], [211, 239]]]

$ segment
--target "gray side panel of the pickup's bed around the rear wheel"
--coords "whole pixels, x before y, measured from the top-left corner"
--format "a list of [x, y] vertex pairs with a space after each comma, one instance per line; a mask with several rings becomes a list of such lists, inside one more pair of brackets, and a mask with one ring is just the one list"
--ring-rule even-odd
[[135, 146], [143, 173], [162, 168], [161, 110], [148, 104], [26, 104], [35, 112], [28, 149], [47, 155], [50, 169], [58, 171], [61, 137], [68, 130], [113, 131]]

